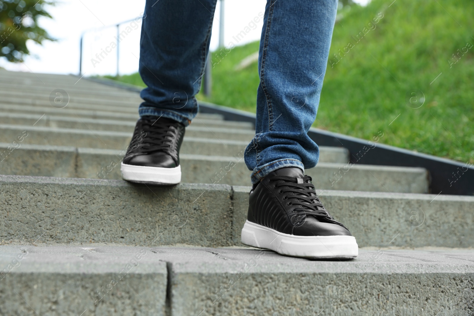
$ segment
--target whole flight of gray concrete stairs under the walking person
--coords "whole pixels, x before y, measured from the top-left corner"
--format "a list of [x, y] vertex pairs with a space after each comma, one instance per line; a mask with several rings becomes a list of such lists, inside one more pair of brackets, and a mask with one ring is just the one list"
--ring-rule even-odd
[[199, 114], [182, 183], [132, 184], [119, 163], [140, 100], [0, 70], [0, 315], [474, 315], [474, 197], [429, 194], [423, 168], [349, 165], [345, 148], [320, 147], [305, 173], [359, 257], [245, 247], [253, 126]]

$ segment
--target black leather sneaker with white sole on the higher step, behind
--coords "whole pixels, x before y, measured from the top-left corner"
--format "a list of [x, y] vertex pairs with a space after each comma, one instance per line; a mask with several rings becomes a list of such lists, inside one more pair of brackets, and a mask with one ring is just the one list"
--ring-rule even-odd
[[179, 150], [184, 125], [169, 118], [138, 119], [120, 166], [122, 178], [132, 182], [176, 184], [181, 181]]

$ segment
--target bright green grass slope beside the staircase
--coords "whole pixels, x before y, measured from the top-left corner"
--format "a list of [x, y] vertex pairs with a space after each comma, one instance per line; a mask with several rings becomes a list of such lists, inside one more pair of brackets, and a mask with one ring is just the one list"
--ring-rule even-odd
[[[448, 62], [474, 45], [474, 2], [391, 2], [353, 6], [336, 23], [329, 59], [337, 61], [334, 54], [349, 42], [354, 47], [333, 67], [328, 63], [314, 126], [365, 139], [383, 131], [381, 143], [474, 163], [474, 46]], [[376, 28], [356, 43], [351, 36], [379, 12]], [[255, 112], [257, 64], [235, 66], [257, 50], [251, 43], [224, 57], [213, 54], [212, 96], [198, 99]], [[137, 74], [119, 80], [143, 86]], [[410, 108], [406, 95], [417, 90], [424, 104]]]

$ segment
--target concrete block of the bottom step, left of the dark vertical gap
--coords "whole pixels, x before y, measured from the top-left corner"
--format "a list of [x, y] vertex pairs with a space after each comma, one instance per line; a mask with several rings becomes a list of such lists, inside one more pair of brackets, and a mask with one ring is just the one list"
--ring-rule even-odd
[[149, 249], [0, 246], [0, 267], [1, 315], [166, 315], [166, 262]]

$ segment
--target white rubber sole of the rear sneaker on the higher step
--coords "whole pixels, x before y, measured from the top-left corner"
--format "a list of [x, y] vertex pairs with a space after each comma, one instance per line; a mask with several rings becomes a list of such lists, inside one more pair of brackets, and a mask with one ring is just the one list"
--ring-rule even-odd
[[122, 179], [151, 184], [177, 184], [181, 182], [181, 165], [175, 168], [134, 166], [121, 163]]

